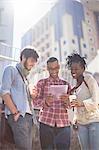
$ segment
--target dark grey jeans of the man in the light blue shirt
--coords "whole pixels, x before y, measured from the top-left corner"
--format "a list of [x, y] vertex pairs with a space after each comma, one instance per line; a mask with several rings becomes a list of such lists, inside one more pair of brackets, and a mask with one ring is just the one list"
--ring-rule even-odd
[[18, 150], [32, 150], [32, 115], [20, 116], [17, 122], [9, 115], [8, 123], [12, 128]]

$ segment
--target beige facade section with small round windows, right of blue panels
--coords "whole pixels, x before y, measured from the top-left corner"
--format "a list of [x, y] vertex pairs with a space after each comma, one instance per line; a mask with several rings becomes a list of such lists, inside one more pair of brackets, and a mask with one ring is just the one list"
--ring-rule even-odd
[[[98, 0], [81, 0], [84, 9], [85, 21], [83, 22], [83, 39], [84, 45], [82, 54], [86, 53], [90, 62], [99, 49], [99, 1]], [[84, 44], [83, 44], [84, 43]]]

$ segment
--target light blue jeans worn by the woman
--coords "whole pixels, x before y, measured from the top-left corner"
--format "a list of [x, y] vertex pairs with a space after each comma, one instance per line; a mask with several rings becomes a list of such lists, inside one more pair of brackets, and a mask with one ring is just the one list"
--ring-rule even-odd
[[79, 124], [78, 138], [82, 150], [99, 150], [99, 122]]

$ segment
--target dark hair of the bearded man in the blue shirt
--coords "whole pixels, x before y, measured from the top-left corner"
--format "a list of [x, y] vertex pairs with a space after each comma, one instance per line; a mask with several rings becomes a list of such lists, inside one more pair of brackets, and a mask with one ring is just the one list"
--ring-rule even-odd
[[29, 57], [33, 57], [36, 61], [39, 58], [39, 55], [33, 48], [24, 48], [21, 51], [20, 60], [22, 60], [22, 56], [24, 56], [26, 59], [28, 59]]

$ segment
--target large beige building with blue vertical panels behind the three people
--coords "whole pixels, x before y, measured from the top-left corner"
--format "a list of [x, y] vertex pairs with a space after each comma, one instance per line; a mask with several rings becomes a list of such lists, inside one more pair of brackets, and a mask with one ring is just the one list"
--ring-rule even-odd
[[[59, 0], [22, 37], [22, 47], [32, 45], [38, 49], [39, 68], [41, 64], [44, 68], [48, 57], [56, 56], [62, 64], [62, 76], [66, 76], [65, 58], [70, 53], [78, 52], [88, 63], [95, 57], [99, 48], [99, 11], [86, 3], [86, 0]], [[99, 2], [97, 5], [99, 8]]]

